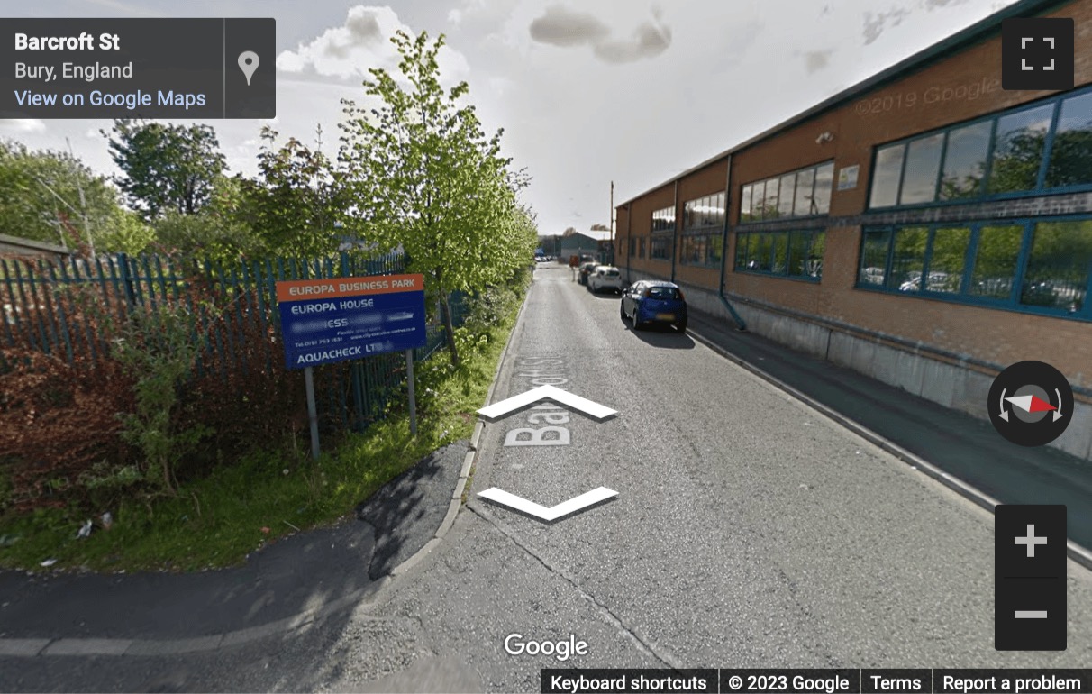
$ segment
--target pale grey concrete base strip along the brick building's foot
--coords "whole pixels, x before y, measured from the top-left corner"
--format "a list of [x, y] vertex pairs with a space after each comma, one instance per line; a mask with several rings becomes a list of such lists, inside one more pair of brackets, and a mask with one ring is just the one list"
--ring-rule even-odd
[[[646, 272], [631, 271], [628, 280], [663, 280]], [[717, 294], [708, 289], [678, 282], [691, 310], [733, 322]], [[820, 321], [805, 320], [775, 309], [729, 298], [747, 324], [747, 330], [811, 356], [875, 378], [946, 408], [988, 420], [986, 398], [994, 377], [1007, 366], [984, 373], [966, 364], [952, 363], [927, 351], [914, 352], [878, 338], [853, 334]], [[1092, 404], [1075, 402], [1073, 421], [1051, 446], [1092, 461]]]

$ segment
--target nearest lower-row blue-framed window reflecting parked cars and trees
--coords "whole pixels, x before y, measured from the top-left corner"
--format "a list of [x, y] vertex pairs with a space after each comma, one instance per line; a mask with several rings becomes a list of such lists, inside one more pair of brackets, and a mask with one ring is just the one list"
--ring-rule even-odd
[[1092, 217], [865, 227], [858, 289], [1092, 320]]

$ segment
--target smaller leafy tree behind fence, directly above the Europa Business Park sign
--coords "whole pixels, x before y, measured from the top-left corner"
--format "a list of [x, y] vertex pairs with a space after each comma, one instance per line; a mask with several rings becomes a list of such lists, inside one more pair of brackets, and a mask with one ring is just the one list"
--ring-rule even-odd
[[[321, 128], [318, 132], [321, 138]], [[297, 257], [336, 252], [341, 239], [335, 222], [346, 207], [340, 172], [320, 150], [296, 138], [275, 149], [275, 130], [265, 126], [261, 137], [258, 166], [262, 177], [250, 181], [248, 195], [253, 200], [254, 225], [265, 243]]]

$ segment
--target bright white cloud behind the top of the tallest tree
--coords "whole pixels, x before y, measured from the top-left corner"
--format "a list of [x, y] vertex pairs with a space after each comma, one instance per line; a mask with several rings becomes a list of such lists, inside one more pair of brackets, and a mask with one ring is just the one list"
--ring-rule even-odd
[[[391, 8], [358, 4], [349, 9], [341, 26], [327, 30], [296, 50], [283, 51], [276, 67], [282, 72], [342, 80], [367, 78], [372, 68], [395, 71], [399, 54], [391, 37], [399, 31], [417, 35]], [[444, 82], [465, 79], [470, 72], [466, 58], [450, 46], [442, 47], [437, 59]]]

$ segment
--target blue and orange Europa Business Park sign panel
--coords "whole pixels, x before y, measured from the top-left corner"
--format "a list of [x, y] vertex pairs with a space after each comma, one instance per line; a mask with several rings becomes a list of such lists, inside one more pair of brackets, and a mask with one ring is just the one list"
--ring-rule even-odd
[[425, 278], [276, 283], [285, 365], [306, 368], [425, 346]]

